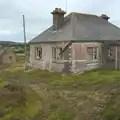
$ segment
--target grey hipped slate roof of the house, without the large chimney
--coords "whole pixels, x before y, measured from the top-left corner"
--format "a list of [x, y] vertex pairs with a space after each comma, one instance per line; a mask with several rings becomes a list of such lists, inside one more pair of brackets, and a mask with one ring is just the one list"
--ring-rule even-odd
[[54, 31], [51, 26], [30, 43], [108, 40], [120, 40], [120, 28], [99, 16], [72, 12], [59, 30]]

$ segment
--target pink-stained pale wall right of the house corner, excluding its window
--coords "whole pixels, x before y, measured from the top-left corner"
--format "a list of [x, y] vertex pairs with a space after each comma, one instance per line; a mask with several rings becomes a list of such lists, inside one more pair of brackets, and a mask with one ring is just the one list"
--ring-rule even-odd
[[[102, 51], [101, 43], [97, 42], [84, 42], [72, 44], [72, 71], [74, 73], [84, 72], [101, 67], [102, 64]], [[98, 60], [89, 60], [87, 47], [98, 47]]]

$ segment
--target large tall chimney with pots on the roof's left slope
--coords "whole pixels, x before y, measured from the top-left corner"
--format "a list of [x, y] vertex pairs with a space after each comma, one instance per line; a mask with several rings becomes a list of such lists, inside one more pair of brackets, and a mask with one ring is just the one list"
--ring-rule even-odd
[[61, 10], [61, 8], [55, 8], [51, 14], [53, 14], [54, 30], [58, 30], [64, 22], [64, 15], [66, 12]]

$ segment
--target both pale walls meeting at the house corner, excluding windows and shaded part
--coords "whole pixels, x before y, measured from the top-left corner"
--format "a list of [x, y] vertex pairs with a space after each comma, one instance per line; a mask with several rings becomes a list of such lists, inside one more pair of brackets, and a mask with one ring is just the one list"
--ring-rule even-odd
[[[52, 60], [52, 47], [64, 48], [68, 42], [42, 43], [30, 45], [30, 59], [33, 68], [56, 72], [81, 73], [101, 67], [101, 43], [72, 43], [64, 52], [64, 60]], [[35, 47], [42, 47], [42, 59], [35, 59]], [[87, 47], [98, 47], [99, 60], [88, 60]]]

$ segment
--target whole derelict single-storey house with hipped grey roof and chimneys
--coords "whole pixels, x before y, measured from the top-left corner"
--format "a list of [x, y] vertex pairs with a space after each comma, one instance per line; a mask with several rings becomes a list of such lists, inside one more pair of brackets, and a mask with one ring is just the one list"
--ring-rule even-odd
[[29, 42], [32, 67], [72, 73], [120, 69], [120, 28], [105, 14], [65, 14], [53, 10], [53, 25]]

